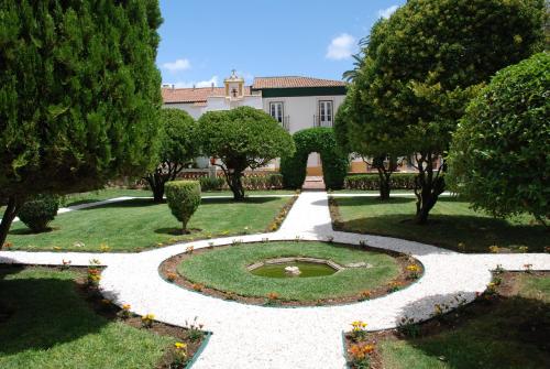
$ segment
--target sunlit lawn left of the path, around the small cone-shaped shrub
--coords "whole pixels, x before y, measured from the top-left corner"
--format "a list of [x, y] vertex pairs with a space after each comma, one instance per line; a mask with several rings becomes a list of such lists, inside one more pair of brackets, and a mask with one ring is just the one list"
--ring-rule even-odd
[[[202, 199], [191, 217], [190, 235], [182, 235], [182, 225], [168, 205], [151, 199], [131, 199], [58, 215], [52, 231], [32, 234], [24, 224], [14, 223], [8, 241], [14, 250], [99, 251], [108, 245], [112, 251], [138, 251], [179, 240], [265, 231], [288, 197], [249, 198], [234, 203], [228, 198]], [[84, 242], [78, 247], [76, 242]], [[162, 245], [160, 245], [162, 243]]]

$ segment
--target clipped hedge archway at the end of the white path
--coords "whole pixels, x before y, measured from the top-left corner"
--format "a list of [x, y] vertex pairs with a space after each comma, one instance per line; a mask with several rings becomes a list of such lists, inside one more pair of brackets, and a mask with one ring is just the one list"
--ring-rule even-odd
[[308, 155], [318, 152], [322, 161], [322, 176], [327, 189], [339, 189], [348, 174], [348, 154], [337, 145], [332, 128], [308, 128], [294, 133], [296, 153], [280, 159], [280, 174], [285, 188], [301, 188], [306, 180]]

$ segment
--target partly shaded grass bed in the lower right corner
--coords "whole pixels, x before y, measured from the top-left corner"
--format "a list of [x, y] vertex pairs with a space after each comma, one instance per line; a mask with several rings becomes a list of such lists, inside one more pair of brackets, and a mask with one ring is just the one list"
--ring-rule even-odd
[[524, 274], [516, 283], [516, 295], [455, 329], [383, 340], [384, 368], [550, 368], [550, 276]]

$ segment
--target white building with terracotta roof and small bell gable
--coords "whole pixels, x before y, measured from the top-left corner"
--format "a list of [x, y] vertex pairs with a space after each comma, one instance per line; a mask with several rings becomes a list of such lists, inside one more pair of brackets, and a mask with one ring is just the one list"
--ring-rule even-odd
[[[345, 83], [310, 77], [256, 77], [252, 86], [237, 76], [223, 80], [223, 87], [174, 88], [163, 86], [164, 106], [186, 110], [198, 119], [206, 111], [229, 110], [240, 106], [263, 109], [290, 133], [332, 127], [334, 113], [345, 97]], [[308, 174], [319, 175], [317, 153], [309, 156]]]

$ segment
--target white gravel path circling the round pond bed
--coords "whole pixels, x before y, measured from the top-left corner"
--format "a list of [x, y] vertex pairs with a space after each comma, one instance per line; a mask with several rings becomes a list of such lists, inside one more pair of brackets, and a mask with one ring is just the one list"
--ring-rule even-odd
[[[406, 252], [418, 259], [425, 274], [409, 287], [371, 301], [339, 306], [266, 307], [206, 296], [164, 281], [158, 265], [169, 257], [196, 249], [270, 240], [326, 240]], [[435, 304], [454, 307], [458, 300], [471, 302], [491, 281], [491, 270], [550, 270], [550, 254], [462, 254], [433, 246], [389, 237], [333, 231], [324, 192], [302, 193], [280, 229], [273, 234], [228, 237], [178, 243], [141, 253], [0, 252], [0, 262], [59, 264], [62, 259], [86, 265], [99, 259], [107, 265], [102, 293], [136, 314], [155, 314], [158, 321], [185, 325], [198, 318], [213, 334], [194, 368], [344, 368], [342, 333], [350, 323], [364, 321], [369, 328], [387, 329], [404, 317], [428, 319]]]

